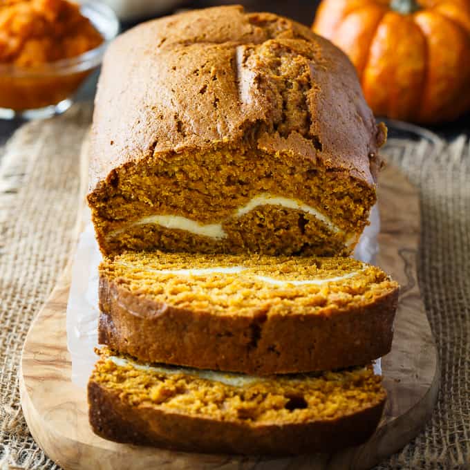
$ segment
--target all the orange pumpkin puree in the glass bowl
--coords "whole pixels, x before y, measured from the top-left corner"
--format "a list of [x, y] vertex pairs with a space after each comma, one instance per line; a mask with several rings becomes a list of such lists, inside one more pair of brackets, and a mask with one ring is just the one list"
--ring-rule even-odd
[[103, 41], [75, 3], [0, 0], [0, 109], [39, 109], [71, 97], [93, 66], [57, 61]]

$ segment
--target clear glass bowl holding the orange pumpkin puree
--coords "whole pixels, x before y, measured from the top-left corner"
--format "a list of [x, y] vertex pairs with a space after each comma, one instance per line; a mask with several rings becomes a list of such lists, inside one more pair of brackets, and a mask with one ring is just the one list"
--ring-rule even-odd
[[0, 118], [48, 118], [71, 106], [75, 92], [101, 64], [109, 41], [119, 32], [118, 17], [104, 3], [84, 1], [80, 12], [100, 32], [103, 43], [77, 57], [41, 66], [0, 64]]

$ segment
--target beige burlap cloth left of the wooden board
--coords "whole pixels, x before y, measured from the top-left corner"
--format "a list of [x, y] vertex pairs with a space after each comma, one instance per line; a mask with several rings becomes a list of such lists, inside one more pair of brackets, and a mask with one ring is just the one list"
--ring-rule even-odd
[[[35, 444], [19, 404], [26, 333], [75, 241], [79, 149], [91, 106], [23, 126], [0, 162], [0, 469], [56, 469]], [[1, 151], [0, 151], [1, 152]]]

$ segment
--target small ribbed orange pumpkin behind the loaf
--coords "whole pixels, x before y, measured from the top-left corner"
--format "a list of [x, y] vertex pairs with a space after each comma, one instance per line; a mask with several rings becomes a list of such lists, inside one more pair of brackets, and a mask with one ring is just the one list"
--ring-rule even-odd
[[432, 124], [470, 109], [469, 0], [323, 0], [312, 29], [349, 56], [376, 115]]

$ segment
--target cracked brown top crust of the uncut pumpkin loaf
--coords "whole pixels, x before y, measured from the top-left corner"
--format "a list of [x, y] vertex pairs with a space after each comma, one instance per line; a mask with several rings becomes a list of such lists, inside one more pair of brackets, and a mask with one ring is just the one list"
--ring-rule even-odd
[[241, 6], [143, 23], [104, 58], [90, 189], [142, 159], [216, 145], [293, 153], [374, 185], [377, 126], [353, 65], [290, 19]]

